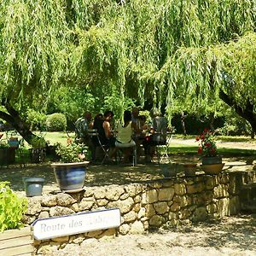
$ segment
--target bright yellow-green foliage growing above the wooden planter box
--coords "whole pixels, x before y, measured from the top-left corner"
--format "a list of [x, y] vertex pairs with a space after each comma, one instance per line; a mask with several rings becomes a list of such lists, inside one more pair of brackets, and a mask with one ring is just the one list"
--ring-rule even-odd
[[16, 195], [9, 182], [0, 182], [0, 231], [20, 228], [26, 206], [26, 198]]

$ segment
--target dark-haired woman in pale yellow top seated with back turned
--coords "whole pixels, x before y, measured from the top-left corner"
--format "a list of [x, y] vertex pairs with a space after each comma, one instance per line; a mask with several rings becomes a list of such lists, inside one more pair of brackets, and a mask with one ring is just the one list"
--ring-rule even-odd
[[117, 138], [115, 142], [117, 148], [122, 148], [122, 152], [124, 153], [123, 162], [128, 162], [132, 153], [132, 148], [136, 145], [131, 138], [133, 128], [134, 124], [131, 122], [131, 112], [125, 110], [124, 125], [119, 125], [117, 127]]

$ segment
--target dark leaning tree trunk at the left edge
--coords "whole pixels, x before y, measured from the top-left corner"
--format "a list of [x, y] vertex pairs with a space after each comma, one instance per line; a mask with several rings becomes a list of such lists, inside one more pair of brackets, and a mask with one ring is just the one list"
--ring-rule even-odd
[[26, 140], [27, 143], [32, 143], [32, 138], [37, 137], [30, 131], [26, 122], [20, 118], [20, 114], [9, 103], [9, 101], [3, 101], [2, 105], [6, 108], [8, 113], [0, 111], [0, 118], [7, 121], [16, 131], [20, 133], [20, 136]]

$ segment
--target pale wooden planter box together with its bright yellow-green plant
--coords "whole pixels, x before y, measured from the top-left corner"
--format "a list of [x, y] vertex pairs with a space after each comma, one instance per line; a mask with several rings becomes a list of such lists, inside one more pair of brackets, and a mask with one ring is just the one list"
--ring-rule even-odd
[[32, 255], [34, 252], [31, 227], [24, 227], [21, 222], [26, 207], [25, 197], [16, 195], [9, 188], [9, 182], [0, 182], [0, 255]]

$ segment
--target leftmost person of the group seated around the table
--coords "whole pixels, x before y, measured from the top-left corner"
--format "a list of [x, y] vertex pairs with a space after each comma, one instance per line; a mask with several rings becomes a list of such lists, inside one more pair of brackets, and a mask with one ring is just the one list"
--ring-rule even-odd
[[75, 142], [88, 144], [88, 129], [90, 128], [91, 113], [86, 111], [75, 122]]

